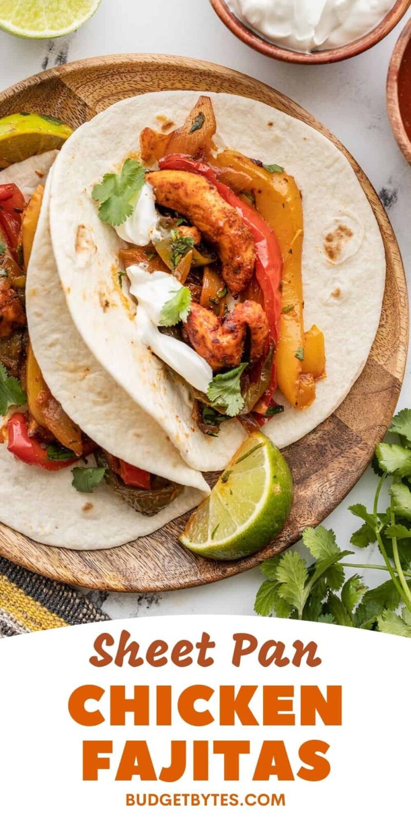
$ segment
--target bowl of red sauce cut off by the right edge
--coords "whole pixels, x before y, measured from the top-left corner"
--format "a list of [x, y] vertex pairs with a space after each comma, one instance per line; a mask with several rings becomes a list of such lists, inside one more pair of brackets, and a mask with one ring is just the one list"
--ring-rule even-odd
[[411, 20], [399, 35], [390, 59], [386, 100], [395, 140], [411, 165]]

